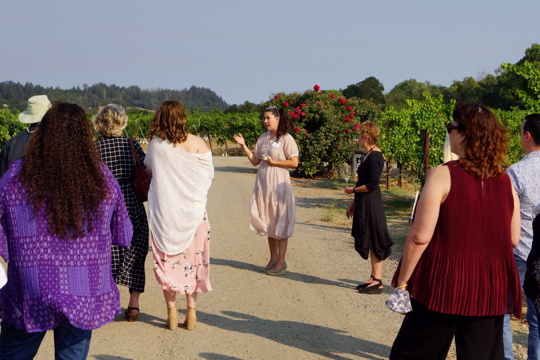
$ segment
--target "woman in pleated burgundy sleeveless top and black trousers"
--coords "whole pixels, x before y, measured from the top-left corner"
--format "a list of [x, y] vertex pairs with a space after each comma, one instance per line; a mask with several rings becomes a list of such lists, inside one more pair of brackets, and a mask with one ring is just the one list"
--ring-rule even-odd
[[448, 124], [459, 160], [433, 168], [416, 207], [393, 285], [408, 284], [407, 313], [390, 359], [503, 359], [503, 315], [521, 317], [512, 254], [519, 200], [504, 172], [508, 130], [478, 104], [456, 106]]

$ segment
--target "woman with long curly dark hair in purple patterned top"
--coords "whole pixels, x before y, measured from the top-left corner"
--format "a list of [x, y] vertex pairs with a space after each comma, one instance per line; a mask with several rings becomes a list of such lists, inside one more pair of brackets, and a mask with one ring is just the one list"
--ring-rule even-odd
[[0, 358], [33, 358], [54, 329], [55, 358], [85, 359], [91, 330], [120, 314], [111, 244], [128, 248], [132, 233], [84, 110], [53, 103], [0, 180]]

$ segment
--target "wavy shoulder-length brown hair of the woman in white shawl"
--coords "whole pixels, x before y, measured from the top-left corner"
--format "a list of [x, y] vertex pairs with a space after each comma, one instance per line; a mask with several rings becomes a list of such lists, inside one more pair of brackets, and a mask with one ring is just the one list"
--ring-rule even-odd
[[187, 139], [186, 121], [186, 113], [179, 101], [164, 101], [150, 121], [146, 136], [150, 138], [156, 135], [161, 140], [180, 144]]

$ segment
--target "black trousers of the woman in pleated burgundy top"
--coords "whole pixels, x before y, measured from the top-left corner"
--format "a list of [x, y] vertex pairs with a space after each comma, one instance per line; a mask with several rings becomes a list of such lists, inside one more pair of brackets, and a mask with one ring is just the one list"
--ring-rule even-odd
[[411, 300], [390, 360], [444, 360], [456, 338], [457, 360], [503, 360], [503, 315], [449, 315]]

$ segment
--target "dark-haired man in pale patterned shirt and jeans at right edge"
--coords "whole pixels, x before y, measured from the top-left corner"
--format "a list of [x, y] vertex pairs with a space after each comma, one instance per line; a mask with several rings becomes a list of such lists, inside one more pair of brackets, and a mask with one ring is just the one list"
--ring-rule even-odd
[[[521, 207], [521, 237], [514, 249], [521, 286], [527, 270], [527, 257], [532, 246], [532, 220], [534, 210], [540, 203], [540, 114], [525, 117], [519, 137], [525, 157], [507, 170], [512, 185], [516, 189]], [[540, 314], [534, 303], [527, 298], [527, 322], [529, 323], [528, 359], [540, 360], [540, 338], [538, 337], [538, 317]], [[512, 330], [510, 316], [504, 316], [504, 358], [514, 359], [512, 354]]]

